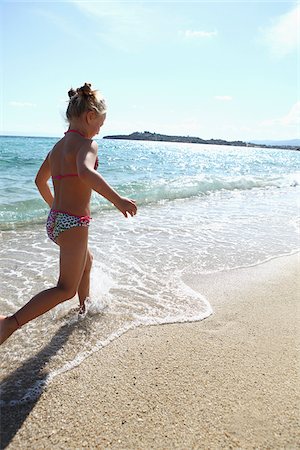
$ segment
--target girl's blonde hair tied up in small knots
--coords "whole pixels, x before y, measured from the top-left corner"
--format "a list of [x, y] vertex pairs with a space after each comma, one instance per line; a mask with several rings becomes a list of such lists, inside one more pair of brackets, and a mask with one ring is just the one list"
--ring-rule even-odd
[[66, 111], [67, 120], [80, 117], [86, 111], [95, 111], [99, 115], [106, 113], [104, 98], [98, 91], [93, 91], [90, 83], [85, 83], [76, 91], [71, 88], [68, 92], [69, 104]]

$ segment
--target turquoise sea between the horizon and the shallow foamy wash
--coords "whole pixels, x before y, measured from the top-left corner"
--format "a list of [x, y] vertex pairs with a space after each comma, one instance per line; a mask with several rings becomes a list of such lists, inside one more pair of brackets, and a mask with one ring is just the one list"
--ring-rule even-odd
[[[41, 223], [47, 208], [34, 184], [53, 138], [0, 137], [0, 229]], [[293, 187], [299, 183], [296, 151], [101, 140], [100, 172], [140, 205], [241, 192]], [[109, 205], [100, 197], [93, 210]]]

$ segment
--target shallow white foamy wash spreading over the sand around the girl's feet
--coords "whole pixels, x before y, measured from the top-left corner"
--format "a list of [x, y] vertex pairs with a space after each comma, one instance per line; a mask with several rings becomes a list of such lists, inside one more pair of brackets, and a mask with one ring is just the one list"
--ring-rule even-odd
[[[140, 208], [134, 220], [124, 220], [117, 211], [95, 215], [86, 314], [78, 320], [72, 309], [78, 306], [75, 298], [19, 330], [7, 351], [1, 348], [9, 377], [20, 361], [47, 348], [52, 336], [61, 338], [67, 326], [62, 344], [54, 342], [45, 358], [46, 379], [29, 388], [29, 397], [16, 386], [14, 400], [33, 399], [55, 376], [129, 329], [207, 317], [212, 313], [208, 300], [186, 286], [182, 275], [249, 267], [294, 252], [299, 248], [296, 197], [296, 189], [275, 189], [268, 195], [259, 190], [218, 192], [209, 198]], [[33, 294], [55, 284], [58, 268], [58, 251], [45, 242], [43, 229], [31, 232], [35, 247], [26, 233], [10, 237], [0, 250], [6, 258], [0, 260], [6, 276], [3, 297], [10, 295], [9, 302], [2, 303], [4, 313], [14, 312]]]

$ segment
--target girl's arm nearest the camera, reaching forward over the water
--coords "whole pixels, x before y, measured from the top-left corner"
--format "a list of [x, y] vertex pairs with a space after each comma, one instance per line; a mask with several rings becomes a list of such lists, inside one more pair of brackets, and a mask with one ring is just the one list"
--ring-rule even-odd
[[113, 203], [125, 217], [127, 213], [134, 216], [137, 212], [134, 200], [121, 197], [94, 169], [97, 153], [98, 145], [95, 141], [87, 142], [81, 147], [77, 155], [78, 176], [91, 189]]

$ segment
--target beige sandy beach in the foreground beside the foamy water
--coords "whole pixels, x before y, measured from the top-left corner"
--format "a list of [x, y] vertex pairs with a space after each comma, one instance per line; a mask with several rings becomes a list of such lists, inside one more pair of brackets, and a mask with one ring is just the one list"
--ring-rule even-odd
[[297, 254], [187, 277], [212, 316], [129, 331], [3, 413], [2, 446], [300, 448], [299, 272]]

